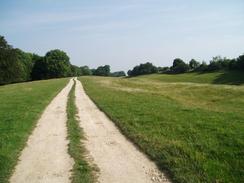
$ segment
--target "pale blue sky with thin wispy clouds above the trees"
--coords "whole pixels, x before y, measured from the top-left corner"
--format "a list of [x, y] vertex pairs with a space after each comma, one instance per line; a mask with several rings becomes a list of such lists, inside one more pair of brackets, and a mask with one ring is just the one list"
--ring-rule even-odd
[[176, 57], [209, 61], [244, 53], [243, 0], [0, 0], [0, 35], [44, 55], [113, 71]]

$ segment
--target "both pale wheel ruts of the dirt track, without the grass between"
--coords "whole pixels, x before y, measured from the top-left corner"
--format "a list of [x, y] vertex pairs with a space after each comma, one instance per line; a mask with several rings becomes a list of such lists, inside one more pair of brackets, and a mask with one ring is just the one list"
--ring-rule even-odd
[[[129, 142], [89, 99], [76, 80], [80, 126], [89, 160], [101, 183], [169, 182], [155, 164]], [[67, 152], [66, 104], [73, 80], [53, 99], [37, 122], [10, 178], [11, 183], [68, 183], [73, 159]]]

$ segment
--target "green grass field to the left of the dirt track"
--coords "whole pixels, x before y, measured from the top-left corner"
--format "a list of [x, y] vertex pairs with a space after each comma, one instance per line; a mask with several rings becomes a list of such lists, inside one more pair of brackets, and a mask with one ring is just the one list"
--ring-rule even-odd
[[8, 182], [42, 111], [67, 82], [53, 79], [0, 86], [0, 182]]

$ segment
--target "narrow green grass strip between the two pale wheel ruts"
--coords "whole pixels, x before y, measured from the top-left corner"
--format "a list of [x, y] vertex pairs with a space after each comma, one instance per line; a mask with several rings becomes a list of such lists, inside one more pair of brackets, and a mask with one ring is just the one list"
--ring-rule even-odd
[[72, 183], [92, 183], [95, 177], [92, 175], [92, 168], [86, 161], [86, 150], [81, 142], [84, 134], [77, 120], [77, 108], [75, 106], [75, 85], [74, 83], [68, 97], [67, 103], [67, 127], [69, 147], [68, 151], [74, 159], [72, 169]]

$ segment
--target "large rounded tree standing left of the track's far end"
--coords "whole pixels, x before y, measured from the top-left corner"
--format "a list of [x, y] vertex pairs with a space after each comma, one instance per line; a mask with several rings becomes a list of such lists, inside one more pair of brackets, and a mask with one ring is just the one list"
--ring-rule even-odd
[[51, 50], [46, 53], [44, 62], [47, 65], [47, 78], [69, 76], [71, 72], [69, 57], [64, 51]]

